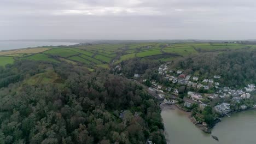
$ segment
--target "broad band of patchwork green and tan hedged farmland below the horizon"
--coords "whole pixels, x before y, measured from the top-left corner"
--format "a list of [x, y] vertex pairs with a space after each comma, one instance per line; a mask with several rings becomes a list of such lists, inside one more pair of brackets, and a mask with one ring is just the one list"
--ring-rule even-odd
[[33, 61], [67, 62], [85, 67], [107, 68], [131, 58], [153, 58], [156, 61], [172, 61], [174, 58], [196, 55], [201, 52], [256, 49], [256, 45], [234, 43], [127, 43], [91, 44], [83, 46], [51, 46], [0, 51], [0, 66], [12, 64], [19, 59]]

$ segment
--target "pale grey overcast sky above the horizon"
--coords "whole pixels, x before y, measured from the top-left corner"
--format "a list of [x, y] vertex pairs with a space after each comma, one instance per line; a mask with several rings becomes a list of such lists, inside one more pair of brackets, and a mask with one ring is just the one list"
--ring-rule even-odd
[[0, 0], [0, 39], [256, 39], [256, 1]]

